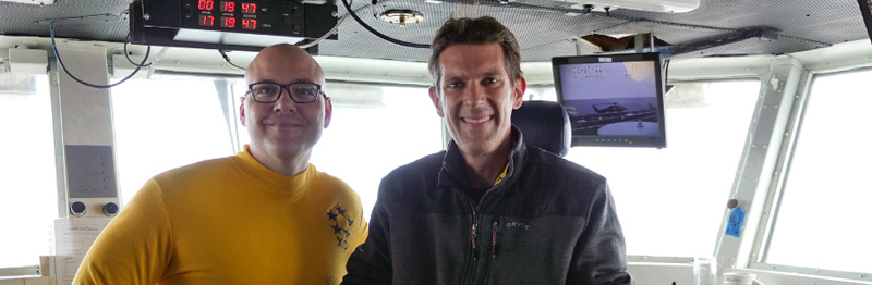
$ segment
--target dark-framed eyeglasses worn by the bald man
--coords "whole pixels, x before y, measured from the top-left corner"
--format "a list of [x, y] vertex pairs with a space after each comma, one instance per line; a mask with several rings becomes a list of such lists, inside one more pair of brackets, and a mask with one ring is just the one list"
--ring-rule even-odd
[[255, 102], [261, 103], [272, 103], [278, 101], [279, 97], [281, 97], [281, 89], [288, 90], [288, 95], [291, 96], [291, 100], [296, 103], [314, 102], [318, 100], [318, 95], [324, 95], [324, 98], [327, 98], [327, 95], [322, 92], [320, 84], [307, 82], [296, 82], [284, 85], [271, 82], [249, 84], [249, 94], [252, 95], [252, 99], [254, 99]]

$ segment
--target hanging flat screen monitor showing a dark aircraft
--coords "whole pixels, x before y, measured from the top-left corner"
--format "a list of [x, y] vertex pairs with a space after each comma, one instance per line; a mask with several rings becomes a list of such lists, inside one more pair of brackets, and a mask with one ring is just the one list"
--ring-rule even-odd
[[658, 52], [552, 59], [572, 146], [666, 147]]

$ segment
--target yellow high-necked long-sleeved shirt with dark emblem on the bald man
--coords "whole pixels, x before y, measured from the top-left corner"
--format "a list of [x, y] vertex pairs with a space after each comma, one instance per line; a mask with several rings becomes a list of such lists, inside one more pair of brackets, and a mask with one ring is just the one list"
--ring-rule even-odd
[[366, 235], [342, 181], [312, 164], [280, 175], [246, 147], [148, 181], [73, 284], [339, 284]]

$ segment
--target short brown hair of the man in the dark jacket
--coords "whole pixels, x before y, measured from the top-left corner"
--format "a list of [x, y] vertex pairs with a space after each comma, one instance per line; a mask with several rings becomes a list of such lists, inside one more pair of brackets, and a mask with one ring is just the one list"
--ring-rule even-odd
[[439, 54], [445, 49], [458, 44], [484, 45], [491, 42], [499, 44], [502, 47], [506, 72], [509, 73], [512, 80], [521, 78], [523, 75], [523, 72], [521, 72], [521, 48], [518, 46], [518, 40], [511, 30], [491, 16], [450, 18], [436, 32], [436, 37], [433, 38], [433, 44], [431, 44], [433, 54], [429, 57], [428, 67], [437, 89], [439, 89], [439, 77], [441, 77]]

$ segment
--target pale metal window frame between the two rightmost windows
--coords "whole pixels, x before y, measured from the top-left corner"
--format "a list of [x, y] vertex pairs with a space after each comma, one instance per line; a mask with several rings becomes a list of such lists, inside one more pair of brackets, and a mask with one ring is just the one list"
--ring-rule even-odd
[[[760, 98], [753, 113], [752, 122], [749, 127], [749, 135], [746, 137], [746, 149], [742, 152], [738, 165], [738, 172], [734, 179], [732, 190], [730, 197], [737, 194], [750, 196], [750, 208], [746, 214], [746, 222], [743, 234], [738, 240], [727, 243], [725, 240], [726, 223], [729, 218], [729, 211], [725, 210], [725, 215], [722, 219], [722, 226], [717, 233], [717, 241], [715, 244], [714, 255], [707, 258], [712, 259], [711, 271], [703, 269], [702, 271], [694, 272], [698, 274], [698, 282], [705, 281], [704, 275], [708, 275], [711, 284], [719, 284], [719, 276], [725, 272], [749, 272], [755, 273], [759, 280], [764, 282], [775, 282], [778, 284], [799, 284], [799, 283], [819, 283], [819, 284], [837, 284], [837, 285], [870, 285], [869, 273], [837, 271], [837, 270], [819, 270], [813, 268], [790, 267], [784, 264], [772, 264], [762, 262], [763, 256], [770, 241], [770, 228], [777, 222], [777, 209], [780, 191], [776, 190], [783, 185], [783, 174], [785, 164], [789, 162], [786, 156], [792, 152], [792, 144], [797, 135], [797, 124], [800, 123], [802, 111], [804, 111], [806, 99], [809, 92], [809, 85], [811, 78], [819, 74], [829, 74], [840, 71], [858, 70], [872, 66], [872, 58], [869, 60], [857, 61], [858, 53], [865, 54], [868, 52], [859, 49], [849, 49], [845, 54], [833, 58], [829, 54], [822, 54], [816, 52], [803, 53], [797, 55], [778, 55], [778, 57], [748, 57], [748, 58], [730, 58], [730, 59], [700, 59], [689, 60], [675, 64], [674, 69], [669, 71], [668, 83], [673, 82], [694, 82], [706, 79], [728, 79], [741, 77], [759, 77], [764, 86], [761, 86]], [[732, 62], [730, 62], [732, 61]], [[777, 70], [778, 65], [789, 65], [790, 69]], [[713, 67], [716, 66], [716, 67]], [[790, 78], [794, 77], [794, 78]], [[798, 77], [798, 79], [796, 78]], [[775, 80], [773, 80], [775, 79]], [[765, 86], [767, 85], [767, 86]], [[770, 86], [777, 86], [775, 88], [790, 88], [790, 91], [785, 91], [777, 96], [777, 98], [766, 98], [766, 91]], [[783, 89], [784, 90], [784, 89]], [[773, 97], [773, 96], [770, 96]], [[783, 99], [794, 97], [790, 106], [774, 106], [775, 108], [766, 104], [766, 99], [777, 99], [776, 102], [780, 103]], [[778, 108], [784, 107], [784, 108]], [[780, 117], [770, 119], [771, 121], [784, 120], [786, 123], [780, 123], [780, 128], [775, 127], [767, 136], [767, 142], [773, 141], [773, 147], [766, 148], [767, 150], [763, 156], [754, 158], [751, 156], [751, 163], [761, 165], [768, 164], [768, 170], [761, 169], [753, 173], [758, 178], [753, 181], [753, 186], [740, 186], [742, 183], [743, 165], [749, 162], [749, 148], [754, 145], [754, 135], [756, 128], [763, 125], [760, 122], [761, 113], [770, 114], [777, 113], [777, 110], [789, 109], [787, 114], [782, 114]], [[770, 124], [774, 124], [770, 122]], [[770, 126], [772, 127], [772, 125]], [[780, 139], [768, 140], [773, 134], [785, 134]], [[775, 144], [777, 142], [777, 144]], [[766, 145], [768, 146], [768, 145]], [[777, 146], [777, 147], [776, 147]], [[777, 194], [777, 196], [776, 196]], [[726, 209], [726, 208], [725, 208]], [[768, 214], [775, 213], [775, 214]], [[650, 273], [651, 270], [656, 270], [663, 265], [683, 265], [681, 262], [675, 262], [665, 257], [638, 257], [628, 256], [629, 268], [635, 273], [641, 273], [638, 277], [642, 280], [650, 280], [659, 276], [658, 274]], [[705, 257], [700, 261], [705, 263]], [[705, 265], [705, 264], [700, 265]], [[693, 261], [697, 267], [697, 259]], [[715, 267], [716, 265], [716, 267]], [[707, 284], [707, 283], [706, 283]]]

